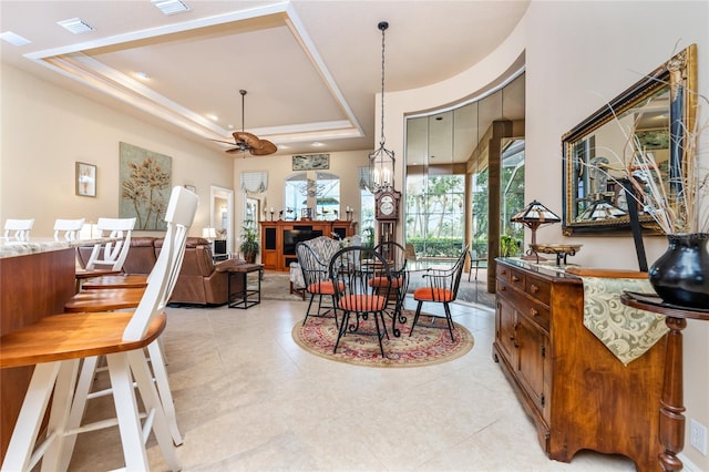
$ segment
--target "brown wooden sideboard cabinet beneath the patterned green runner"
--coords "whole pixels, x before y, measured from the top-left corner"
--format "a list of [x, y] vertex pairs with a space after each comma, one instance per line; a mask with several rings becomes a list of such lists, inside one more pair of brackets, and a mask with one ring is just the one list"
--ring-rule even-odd
[[624, 366], [584, 327], [582, 279], [497, 259], [493, 358], [551, 459], [588, 449], [659, 470], [660, 396], [667, 337]]

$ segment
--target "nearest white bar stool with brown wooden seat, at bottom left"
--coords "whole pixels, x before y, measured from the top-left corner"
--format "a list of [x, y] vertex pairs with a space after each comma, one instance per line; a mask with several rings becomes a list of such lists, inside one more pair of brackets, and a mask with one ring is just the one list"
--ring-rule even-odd
[[[69, 438], [116, 423], [126, 470], [150, 469], [145, 441], [151, 430], [167, 466], [174, 471], [182, 468], [143, 349], [165, 329], [166, 293], [179, 274], [197, 203], [195, 194], [183, 187], [173, 188], [165, 217], [165, 245], [134, 312], [49, 316], [0, 338], [0, 368], [34, 366], [2, 470], [31, 470], [40, 460], [42, 470], [66, 470], [73, 448]], [[106, 358], [116, 420], [75, 427], [70, 418], [72, 410], [79, 409], [74, 399], [76, 373], [82, 360], [96, 356]], [[141, 424], [134, 381], [147, 412], [146, 431]], [[37, 444], [48, 407], [47, 433]]]

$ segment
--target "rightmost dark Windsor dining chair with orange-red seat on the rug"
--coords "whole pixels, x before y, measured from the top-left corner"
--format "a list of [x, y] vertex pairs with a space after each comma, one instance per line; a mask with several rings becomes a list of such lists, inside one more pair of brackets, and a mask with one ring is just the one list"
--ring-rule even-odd
[[[448, 328], [451, 334], [451, 340], [453, 337], [453, 318], [451, 317], [450, 304], [455, 301], [458, 297], [458, 288], [461, 284], [461, 275], [463, 273], [463, 266], [465, 266], [465, 258], [467, 257], [467, 247], [463, 249], [461, 255], [455, 260], [452, 267], [448, 269], [429, 268], [423, 274], [424, 286], [413, 290], [413, 299], [417, 304], [417, 312], [413, 316], [413, 322], [411, 324], [411, 331], [409, 336], [413, 335], [413, 329], [420, 325], [419, 318], [421, 317], [421, 307], [424, 302], [429, 304], [442, 304], [445, 316], [424, 314], [424, 317], [430, 317], [428, 325], [420, 325], [427, 328]], [[445, 319], [445, 325], [436, 324], [438, 319]]]

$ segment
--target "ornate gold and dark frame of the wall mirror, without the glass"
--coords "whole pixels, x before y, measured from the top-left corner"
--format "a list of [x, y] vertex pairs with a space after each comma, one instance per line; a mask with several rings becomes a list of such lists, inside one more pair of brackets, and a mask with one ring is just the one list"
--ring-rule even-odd
[[[670, 88], [669, 121], [675, 124], [675, 126], [669, 126], [670, 143], [681, 143], [681, 141], [687, 137], [686, 131], [691, 130], [693, 126], [697, 98], [695, 93], [690, 92], [682, 93], [679, 95], [680, 99], [676, 100], [678, 96], [677, 91], [696, 91], [696, 84], [697, 45], [690, 44], [562, 136], [564, 162], [562, 230], [565, 236], [574, 236], [577, 234], [630, 233], [630, 220], [627, 215], [605, 220], [574, 220], [574, 202], [578, 192], [574, 172], [574, 160], [569, 158], [573, 157], [574, 144], [589, 136], [604, 124], [615, 120], [615, 116], [623, 115], [626, 111], [635, 107], [668, 85]], [[679, 135], [679, 133], [685, 135]], [[678, 153], [680, 155], [678, 155]], [[672, 160], [672, 155], [676, 156], [675, 158], [684, 158], [681, 156], [681, 147], [670, 145], [670, 160]], [[650, 216], [640, 216], [640, 223], [646, 230], [659, 234], [659, 227], [654, 224]]]

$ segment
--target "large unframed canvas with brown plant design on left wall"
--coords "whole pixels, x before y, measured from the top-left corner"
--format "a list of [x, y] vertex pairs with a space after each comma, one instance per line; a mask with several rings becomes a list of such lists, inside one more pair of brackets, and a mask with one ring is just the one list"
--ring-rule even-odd
[[165, 230], [165, 212], [172, 189], [173, 160], [121, 143], [121, 218], [136, 218], [137, 230]]

